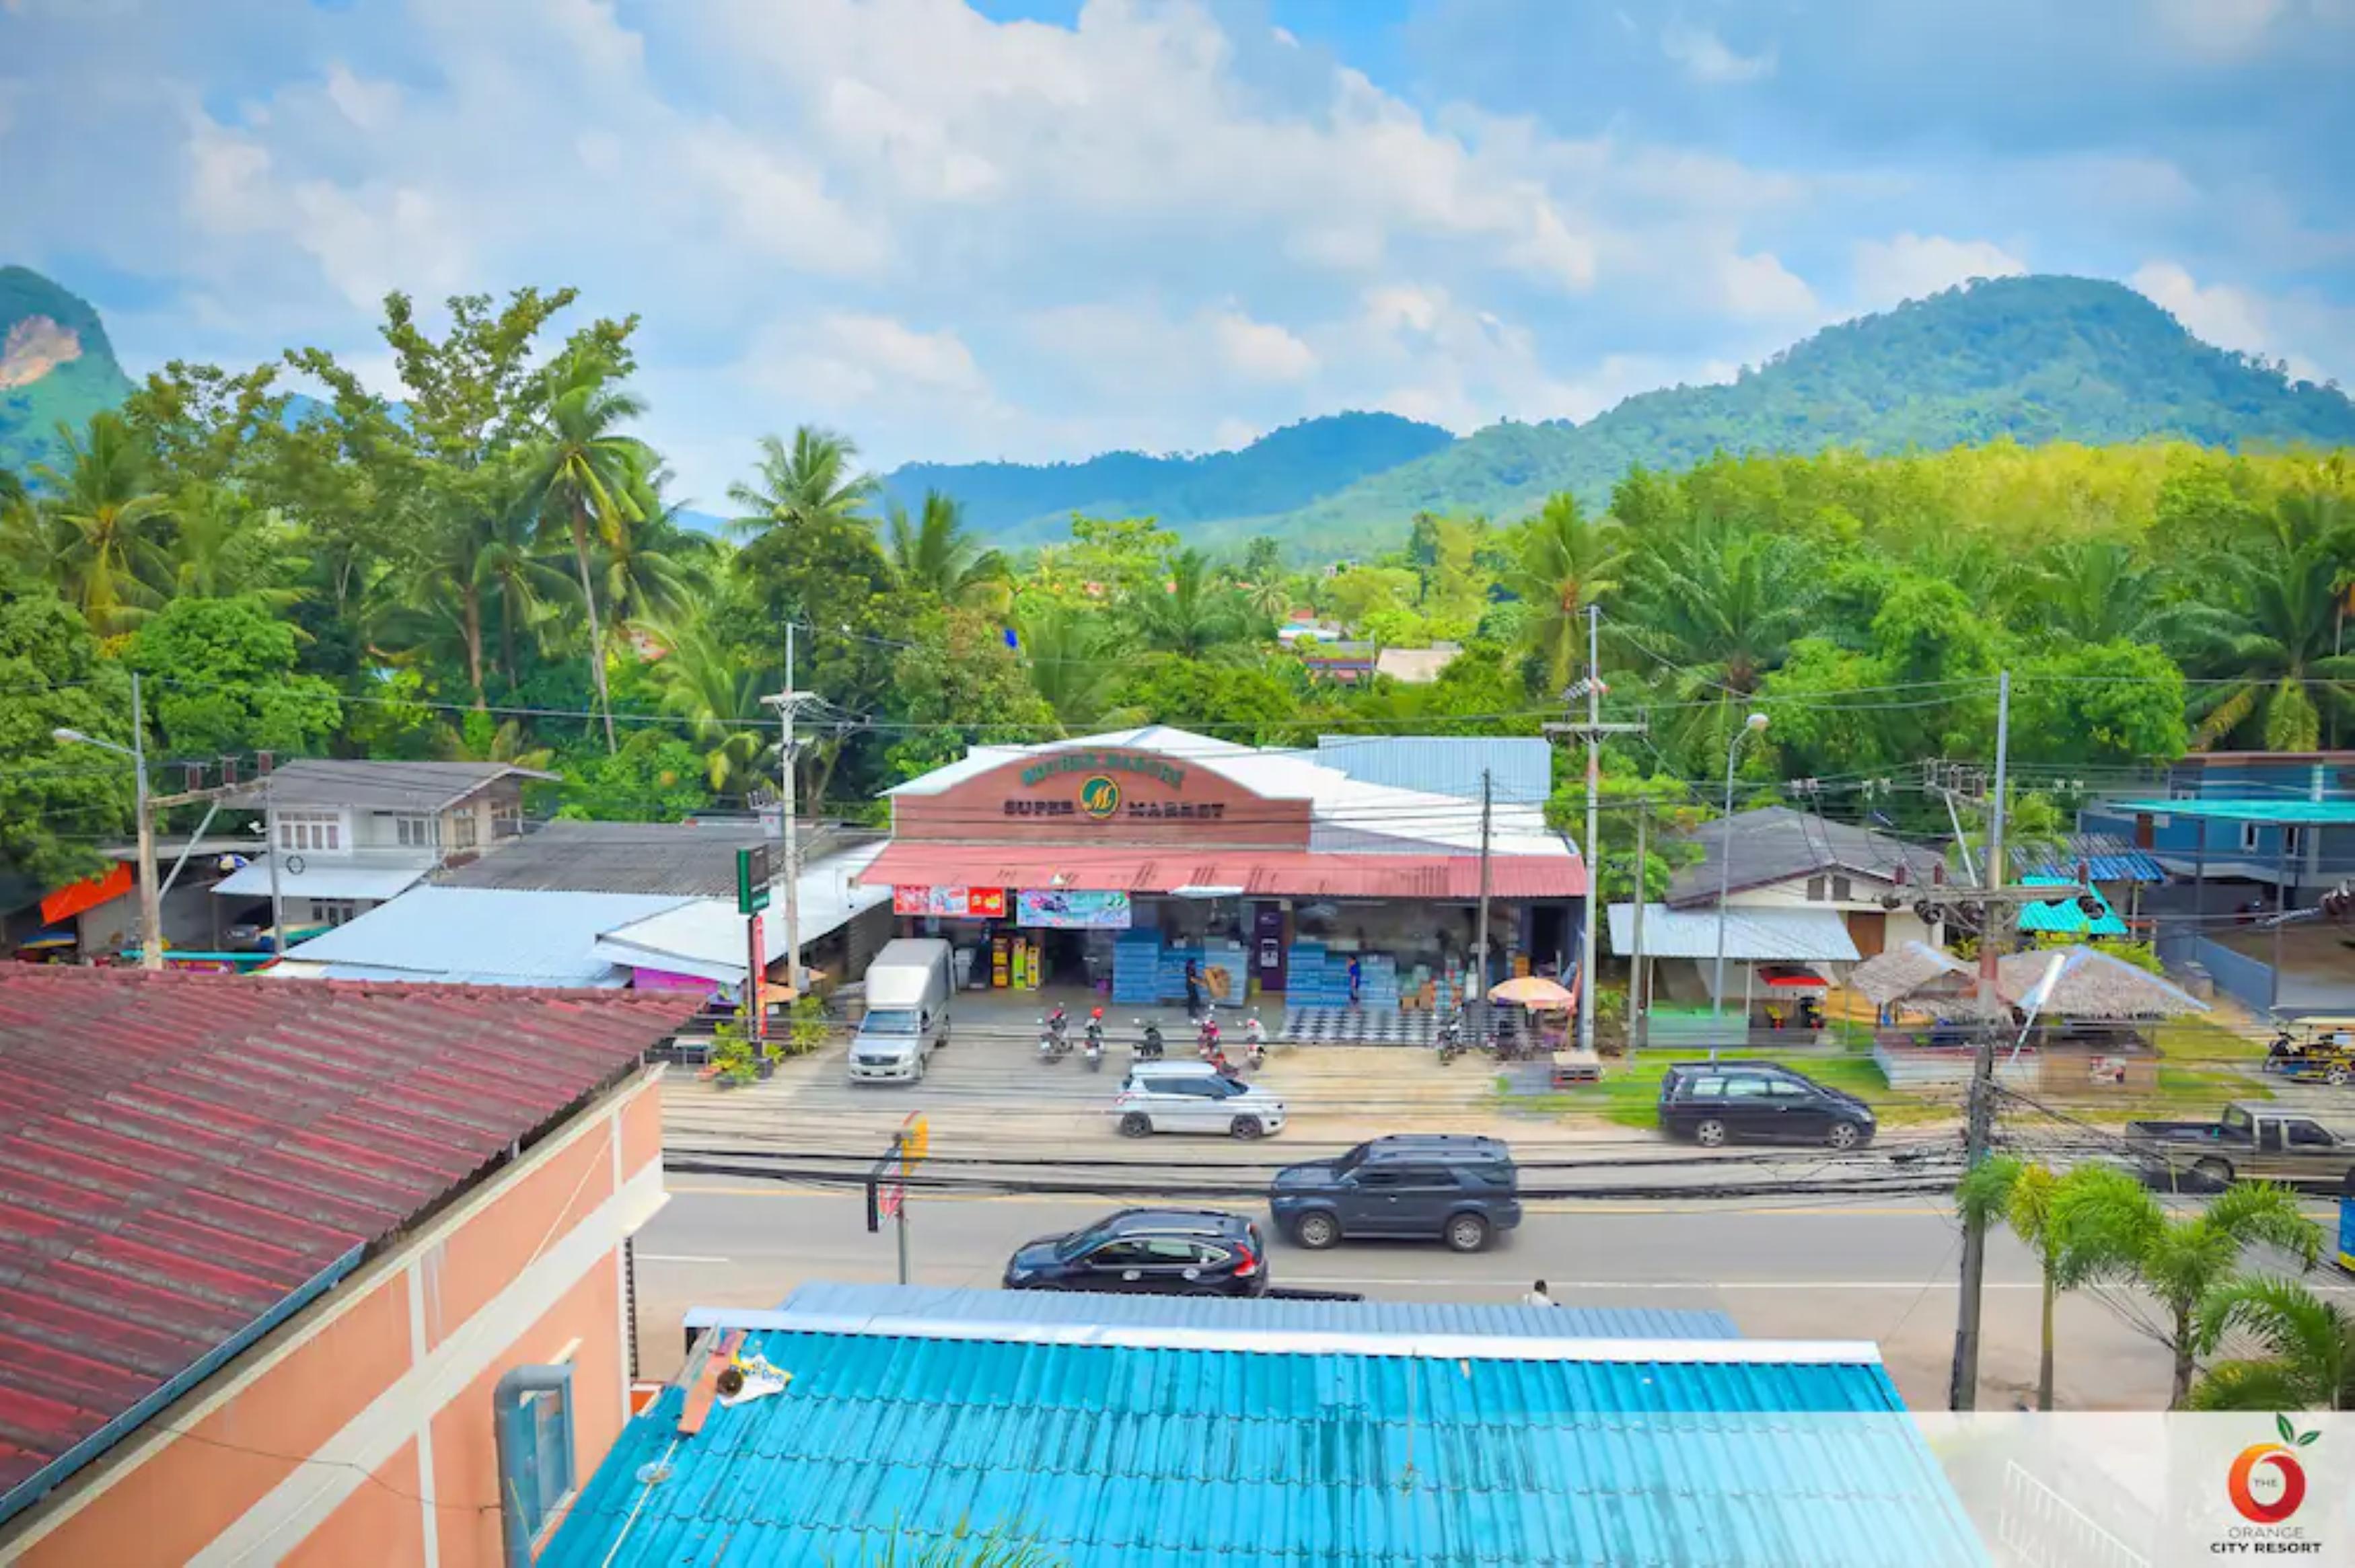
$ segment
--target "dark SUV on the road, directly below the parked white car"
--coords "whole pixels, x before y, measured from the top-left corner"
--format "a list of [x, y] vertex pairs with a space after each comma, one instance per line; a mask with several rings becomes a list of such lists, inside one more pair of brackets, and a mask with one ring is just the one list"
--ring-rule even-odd
[[1267, 1205], [1305, 1248], [1342, 1236], [1422, 1236], [1479, 1253], [1521, 1224], [1521, 1172], [1495, 1137], [1378, 1137], [1335, 1161], [1286, 1165]]

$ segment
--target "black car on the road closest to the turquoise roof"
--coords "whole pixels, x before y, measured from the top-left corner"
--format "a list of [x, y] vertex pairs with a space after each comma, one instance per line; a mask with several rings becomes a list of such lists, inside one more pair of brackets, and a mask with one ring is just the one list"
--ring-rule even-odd
[[1022, 1243], [1008, 1290], [1265, 1295], [1260, 1227], [1215, 1208], [1123, 1208], [1069, 1236]]

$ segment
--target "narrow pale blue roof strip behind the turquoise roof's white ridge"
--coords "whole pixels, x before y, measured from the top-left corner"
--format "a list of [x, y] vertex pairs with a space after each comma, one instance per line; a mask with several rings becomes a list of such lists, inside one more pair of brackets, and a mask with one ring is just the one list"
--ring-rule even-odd
[[[1064, 1295], [947, 1285], [815, 1281], [782, 1311], [834, 1318], [909, 1316], [944, 1323], [1116, 1323], [1135, 1328], [1321, 1330], [1387, 1335], [1526, 1335], [1578, 1340], [1738, 1340], [1722, 1311], [1679, 1307], [1521, 1307], [1495, 1302], [1286, 1302], [1222, 1295]], [[688, 1323], [697, 1323], [690, 1318]]]

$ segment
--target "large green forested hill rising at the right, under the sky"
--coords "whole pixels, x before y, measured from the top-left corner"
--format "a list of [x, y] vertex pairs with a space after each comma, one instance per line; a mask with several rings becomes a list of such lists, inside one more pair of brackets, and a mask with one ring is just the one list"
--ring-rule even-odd
[[2355, 445], [2355, 403], [2202, 344], [2120, 283], [1995, 278], [1863, 315], [1795, 344], [1729, 386], [1627, 398], [1587, 424], [1495, 424], [1420, 461], [1276, 518], [1194, 530], [1269, 532], [1302, 553], [1364, 549], [1418, 511], [1512, 518], [1571, 490], [1599, 506], [1634, 464], [1686, 469], [1714, 450], [1943, 450], [1997, 438], [2204, 445]]

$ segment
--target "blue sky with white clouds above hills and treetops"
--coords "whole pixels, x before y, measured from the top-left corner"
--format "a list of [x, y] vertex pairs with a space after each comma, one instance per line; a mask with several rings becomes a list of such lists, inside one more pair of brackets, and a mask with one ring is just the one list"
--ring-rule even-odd
[[2355, 0], [0, 0], [0, 264], [391, 396], [386, 290], [579, 287], [711, 506], [796, 424], [1587, 419], [2021, 271], [2355, 384], [2350, 66]]

